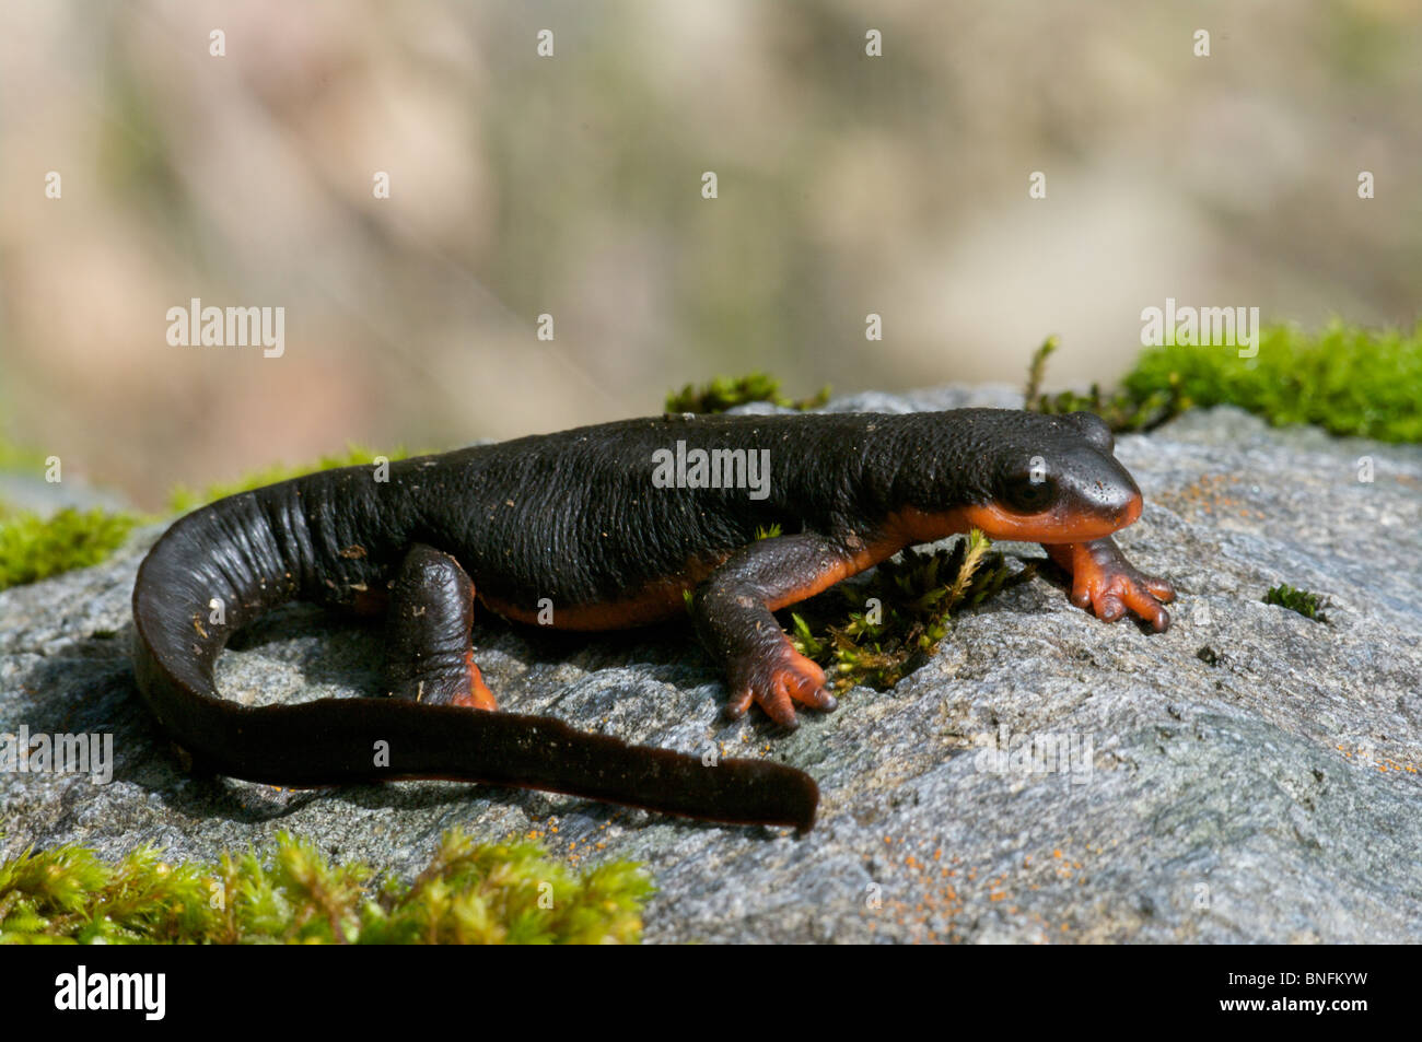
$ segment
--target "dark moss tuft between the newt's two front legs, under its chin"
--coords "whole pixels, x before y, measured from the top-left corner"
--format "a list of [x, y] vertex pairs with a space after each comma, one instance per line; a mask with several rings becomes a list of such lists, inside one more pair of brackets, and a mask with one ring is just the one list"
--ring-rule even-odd
[[823, 598], [838, 596], [839, 617], [848, 603], [849, 621], [812, 624], [795, 613], [791, 641], [802, 655], [835, 667], [839, 689], [893, 687], [927, 661], [954, 614], [1031, 579], [1032, 566], [1012, 574], [1003, 554], [990, 547], [974, 529], [951, 550], [904, 552], [880, 564], [870, 581], [843, 583], [808, 601], [806, 616], [829, 616]]

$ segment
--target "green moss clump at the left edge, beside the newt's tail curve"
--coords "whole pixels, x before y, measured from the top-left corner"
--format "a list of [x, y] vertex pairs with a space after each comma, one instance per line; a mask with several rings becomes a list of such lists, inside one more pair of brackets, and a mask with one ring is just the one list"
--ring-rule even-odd
[[138, 520], [73, 507], [50, 517], [30, 510], [0, 513], [0, 590], [98, 564], [124, 544]]

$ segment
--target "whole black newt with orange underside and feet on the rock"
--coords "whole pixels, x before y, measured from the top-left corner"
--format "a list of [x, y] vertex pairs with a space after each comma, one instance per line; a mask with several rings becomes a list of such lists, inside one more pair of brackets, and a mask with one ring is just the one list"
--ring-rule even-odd
[[[691, 590], [728, 712], [757, 702], [793, 726], [795, 704], [835, 699], [771, 613], [970, 527], [1042, 543], [1071, 573], [1075, 604], [1165, 630], [1170, 584], [1111, 539], [1142, 507], [1112, 452], [1085, 412], [663, 417], [405, 459], [385, 480], [367, 466], [313, 473], [195, 510], [158, 540], [134, 586], [138, 687], [195, 763], [235, 778], [461, 779], [803, 830], [819, 800], [803, 772], [705, 765], [491, 712], [474, 601], [609, 630], [675, 617]], [[782, 535], [757, 537], [771, 526]], [[385, 611], [388, 697], [223, 699], [213, 664], [228, 638], [290, 600]]]

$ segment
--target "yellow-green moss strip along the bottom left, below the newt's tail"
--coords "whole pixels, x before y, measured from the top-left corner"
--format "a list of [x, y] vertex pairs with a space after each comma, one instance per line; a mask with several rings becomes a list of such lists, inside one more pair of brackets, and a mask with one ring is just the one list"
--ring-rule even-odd
[[144, 847], [118, 863], [64, 846], [0, 864], [0, 944], [597, 944], [637, 942], [653, 886], [613, 861], [580, 874], [533, 843], [441, 840], [410, 884], [374, 883], [277, 836], [266, 857], [168, 864]]

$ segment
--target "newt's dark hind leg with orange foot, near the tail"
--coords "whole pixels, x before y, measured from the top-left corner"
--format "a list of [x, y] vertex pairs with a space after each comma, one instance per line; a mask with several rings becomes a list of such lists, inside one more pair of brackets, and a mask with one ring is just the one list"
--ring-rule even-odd
[[415, 543], [390, 590], [385, 689], [394, 698], [495, 709], [474, 664], [474, 581], [459, 563]]

